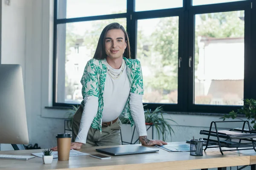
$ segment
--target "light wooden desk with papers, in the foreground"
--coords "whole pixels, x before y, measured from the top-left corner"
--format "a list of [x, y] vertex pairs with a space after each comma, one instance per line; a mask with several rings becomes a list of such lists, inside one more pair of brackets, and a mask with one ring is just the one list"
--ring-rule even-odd
[[[177, 142], [184, 144], [184, 142]], [[140, 144], [138, 144], [140, 145]], [[115, 147], [115, 146], [113, 146]], [[125, 147], [125, 145], [121, 145]], [[81, 152], [95, 154], [96, 148], [81, 149]], [[156, 148], [156, 147], [154, 147]], [[30, 155], [41, 150], [15, 150], [0, 151], [0, 154]], [[96, 159], [89, 155], [70, 157], [69, 161], [53, 159], [52, 164], [43, 164], [42, 158], [36, 157], [28, 161], [0, 159], [0, 169], [4, 170], [138, 170], [138, 169], [168, 169], [188, 170], [213, 167], [230, 167], [250, 164], [250, 156], [237, 152], [225, 152], [221, 155], [219, 150], [209, 148], [204, 151], [204, 156], [190, 156], [189, 152], [167, 152], [159, 148], [157, 153], [143, 153], [125, 156], [111, 156], [111, 159]]]

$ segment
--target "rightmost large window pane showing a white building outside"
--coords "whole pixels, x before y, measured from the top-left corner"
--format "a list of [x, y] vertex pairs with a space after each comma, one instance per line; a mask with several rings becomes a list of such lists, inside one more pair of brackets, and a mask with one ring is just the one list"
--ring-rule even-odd
[[195, 104], [243, 105], [244, 11], [195, 15]]

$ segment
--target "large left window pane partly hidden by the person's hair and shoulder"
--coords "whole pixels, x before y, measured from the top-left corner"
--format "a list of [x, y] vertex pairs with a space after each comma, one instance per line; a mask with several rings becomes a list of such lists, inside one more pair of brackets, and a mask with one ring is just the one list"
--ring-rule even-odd
[[59, 24], [57, 27], [56, 96], [58, 103], [79, 104], [81, 77], [93, 55], [105, 26], [118, 22], [126, 28], [126, 18]]

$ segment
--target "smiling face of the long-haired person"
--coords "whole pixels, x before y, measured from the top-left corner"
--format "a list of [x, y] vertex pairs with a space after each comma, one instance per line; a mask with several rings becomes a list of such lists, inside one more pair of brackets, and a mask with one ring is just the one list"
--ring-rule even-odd
[[105, 52], [111, 59], [122, 57], [127, 44], [121, 29], [108, 30], [105, 37]]

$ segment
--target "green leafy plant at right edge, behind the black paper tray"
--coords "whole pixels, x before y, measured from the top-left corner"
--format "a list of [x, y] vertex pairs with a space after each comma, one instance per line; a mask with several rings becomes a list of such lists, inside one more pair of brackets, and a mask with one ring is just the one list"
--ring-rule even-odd
[[[245, 115], [247, 117], [248, 121], [252, 124], [250, 125], [252, 130], [256, 129], [256, 100], [255, 99], [243, 99], [244, 105], [242, 108], [238, 109], [237, 111], [231, 111], [229, 114], [224, 115], [224, 117], [221, 117], [220, 119], [240, 119], [237, 116], [239, 114]], [[242, 119], [240, 119], [242, 120]]]

